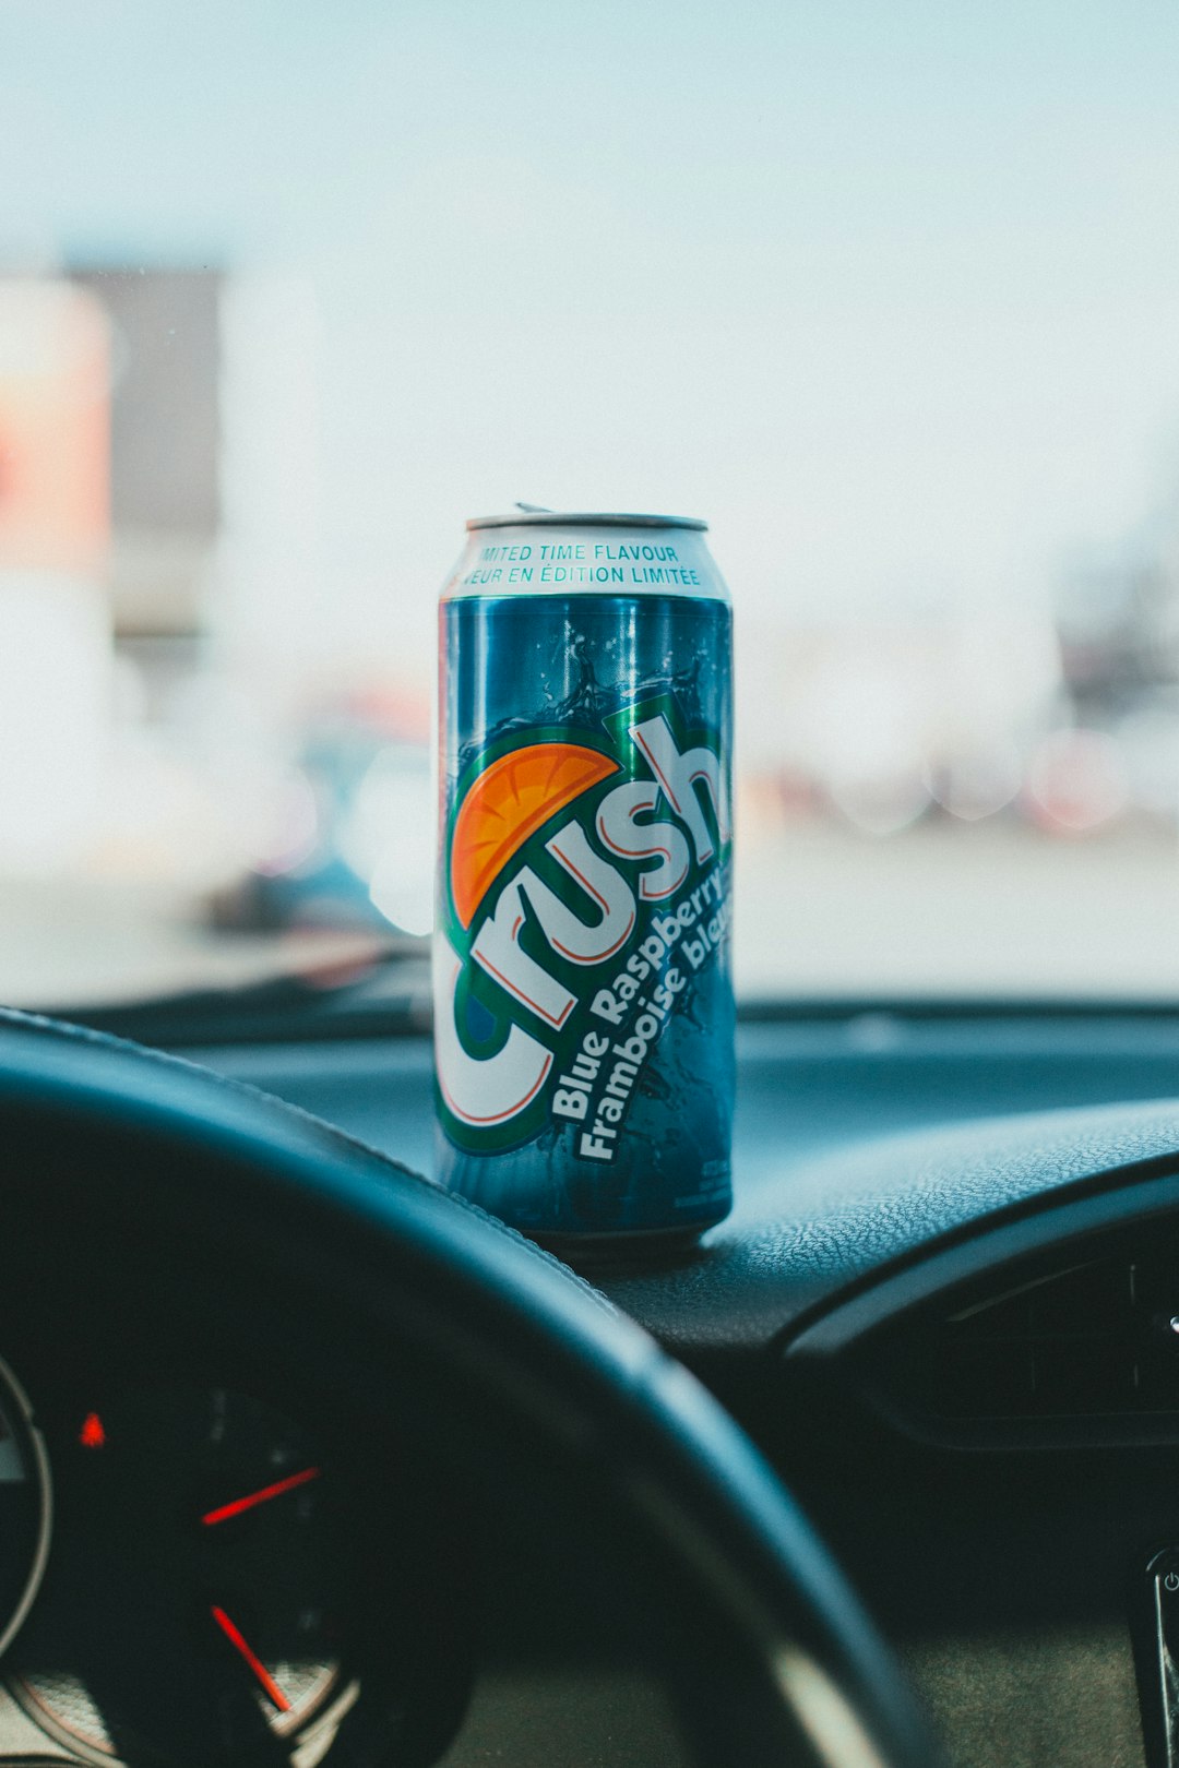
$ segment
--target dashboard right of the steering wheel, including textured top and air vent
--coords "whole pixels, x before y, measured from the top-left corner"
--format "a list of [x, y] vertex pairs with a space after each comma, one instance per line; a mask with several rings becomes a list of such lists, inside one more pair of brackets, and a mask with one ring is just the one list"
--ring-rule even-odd
[[[200, 1059], [430, 1165], [421, 1038]], [[1163, 1013], [748, 1017], [734, 1215], [590, 1273], [769, 1455], [962, 1768], [1168, 1761], [1177, 1094]]]

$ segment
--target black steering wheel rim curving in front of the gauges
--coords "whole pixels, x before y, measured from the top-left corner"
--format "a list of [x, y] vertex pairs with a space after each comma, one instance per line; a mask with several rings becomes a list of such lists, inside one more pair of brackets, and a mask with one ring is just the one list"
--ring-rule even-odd
[[48, 1215], [85, 1232], [113, 1213], [159, 1245], [232, 1232], [270, 1269], [346, 1284], [375, 1335], [426, 1335], [477, 1370], [506, 1429], [559, 1439], [728, 1628], [758, 1718], [718, 1715], [718, 1763], [797, 1761], [799, 1738], [833, 1768], [935, 1759], [889, 1650], [749, 1439], [514, 1231], [269, 1094], [12, 1011], [0, 1011], [0, 1220]]

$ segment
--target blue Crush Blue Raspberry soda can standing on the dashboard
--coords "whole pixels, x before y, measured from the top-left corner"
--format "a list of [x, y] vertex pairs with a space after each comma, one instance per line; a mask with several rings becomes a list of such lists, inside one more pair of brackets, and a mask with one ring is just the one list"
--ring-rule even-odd
[[732, 1204], [732, 612], [704, 522], [467, 523], [440, 603], [438, 1177], [569, 1259]]

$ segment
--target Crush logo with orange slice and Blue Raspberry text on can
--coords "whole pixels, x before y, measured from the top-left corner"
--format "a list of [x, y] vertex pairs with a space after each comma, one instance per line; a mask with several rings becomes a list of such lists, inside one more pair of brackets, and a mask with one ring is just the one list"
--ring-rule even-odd
[[514, 734], [460, 780], [435, 941], [440, 1114], [475, 1153], [573, 1123], [615, 1158], [663, 1027], [726, 926], [719, 735], [673, 695]]

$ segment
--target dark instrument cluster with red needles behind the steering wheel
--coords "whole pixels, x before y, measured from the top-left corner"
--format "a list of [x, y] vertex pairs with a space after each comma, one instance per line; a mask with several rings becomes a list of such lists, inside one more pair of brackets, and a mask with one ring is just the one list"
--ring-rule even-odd
[[396, 1482], [216, 1381], [30, 1395], [0, 1363], [0, 1761], [433, 1756], [461, 1648]]

